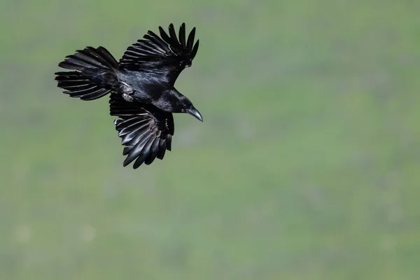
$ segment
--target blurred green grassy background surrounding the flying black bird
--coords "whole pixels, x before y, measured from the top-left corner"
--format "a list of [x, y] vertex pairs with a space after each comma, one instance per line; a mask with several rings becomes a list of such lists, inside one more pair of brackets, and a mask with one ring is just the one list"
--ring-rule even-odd
[[[419, 279], [420, 2], [1, 1], [0, 279]], [[165, 160], [53, 73], [197, 27]]]

